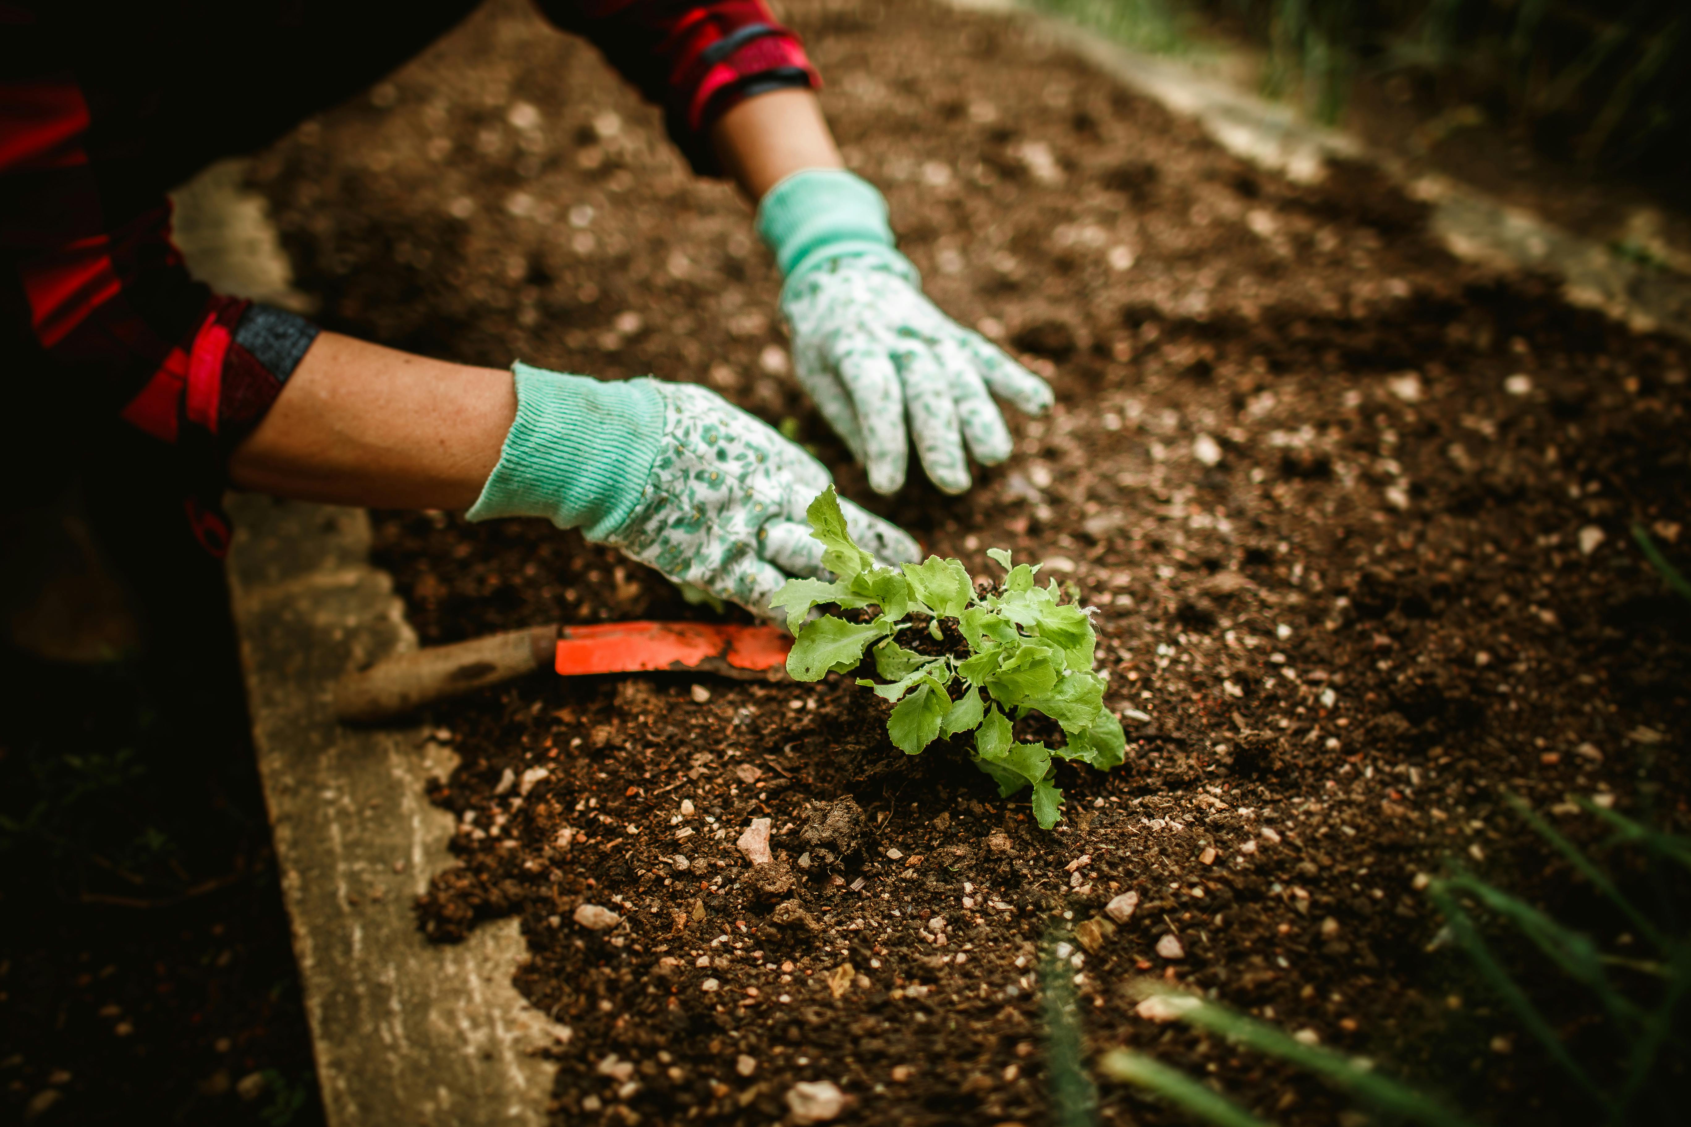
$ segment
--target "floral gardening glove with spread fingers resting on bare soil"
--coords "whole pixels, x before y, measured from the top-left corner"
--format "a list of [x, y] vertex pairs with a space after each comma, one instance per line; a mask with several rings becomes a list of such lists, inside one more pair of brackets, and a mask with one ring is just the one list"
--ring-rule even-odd
[[993, 394], [1026, 414], [1052, 389], [922, 296], [893, 250], [886, 201], [840, 169], [795, 172], [758, 204], [758, 233], [786, 282], [781, 313], [798, 382], [869, 471], [878, 493], [905, 483], [910, 439], [947, 493], [969, 488], [969, 460], [996, 465], [1011, 438]]

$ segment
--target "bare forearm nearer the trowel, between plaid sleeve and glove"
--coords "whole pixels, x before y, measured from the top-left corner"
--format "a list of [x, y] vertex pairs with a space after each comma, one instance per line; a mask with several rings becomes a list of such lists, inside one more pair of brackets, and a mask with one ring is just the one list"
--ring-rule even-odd
[[516, 416], [511, 373], [323, 333], [228, 463], [237, 488], [467, 509]]

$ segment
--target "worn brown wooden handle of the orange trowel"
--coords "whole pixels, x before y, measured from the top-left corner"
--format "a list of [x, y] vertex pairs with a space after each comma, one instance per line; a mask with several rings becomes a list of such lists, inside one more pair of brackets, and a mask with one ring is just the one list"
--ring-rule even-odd
[[556, 651], [558, 627], [546, 625], [396, 654], [340, 679], [335, 716], [343, 723], [404, 716], [435, 701], [550, 669]]

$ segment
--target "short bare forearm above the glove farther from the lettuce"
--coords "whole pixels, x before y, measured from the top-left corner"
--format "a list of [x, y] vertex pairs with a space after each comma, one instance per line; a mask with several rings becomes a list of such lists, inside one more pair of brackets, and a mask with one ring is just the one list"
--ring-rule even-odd
[[808, 90], [774, 90], [741, 101], [717, 120], [710, 142], [752, 203], [793, 172], [846, 167], [822, 103]]

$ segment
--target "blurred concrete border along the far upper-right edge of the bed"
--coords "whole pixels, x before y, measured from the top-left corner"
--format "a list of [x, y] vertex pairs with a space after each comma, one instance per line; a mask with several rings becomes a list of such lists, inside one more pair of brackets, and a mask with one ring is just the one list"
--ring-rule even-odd
[[1228, 152], [1299, 182], [1319, 181], [1329, 161], [1366, 161], [1432, 208], [1431, 231], [1459, 259], [1562, 279], [1569, 304], [1601, 309], [1634, 331], [1691, 340], [1691, 279], [1615, 253], [1544, 218], [1453, 181], [1410, 172], [1397, 155], [1316, 125], [1283, 103], [1226, 81], [1221, 71], [1109, 42], [1023, 0], [945, 0], [955, 8], [1015, 15], [1136, 93], [1194, 118]]

